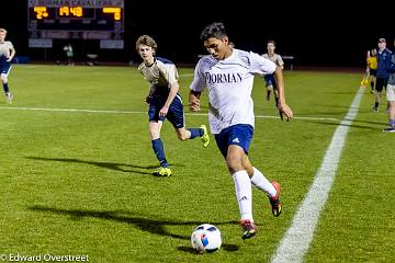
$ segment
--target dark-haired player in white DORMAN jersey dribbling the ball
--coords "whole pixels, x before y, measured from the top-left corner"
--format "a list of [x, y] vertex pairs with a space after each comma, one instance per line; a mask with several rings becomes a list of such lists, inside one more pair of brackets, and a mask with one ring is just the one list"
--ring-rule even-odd
[[274, 72], [279, 89], [279, 111], [287, 121], [293, 117], [293, 112], [285, 103], [280, 67], [259, 54], [229, 47], [223, 23], [207, 25], [201, 39], [210, 55], [203, 56], [194, 69], [189, 105], [192, 111], [199, 111], [201, 92], [207, 88], [211, 133], [214, 134], [233, 175], [240, 211], [241, 238], [248, 239], [258, 231], [252, 217], [251, 185], [268, 195], [273, 216], [281, 214], [280, 184], [275, 181], [270, 183], [252, 167], [248, 158], [255, 126], [251, 99], [253, 77]]

